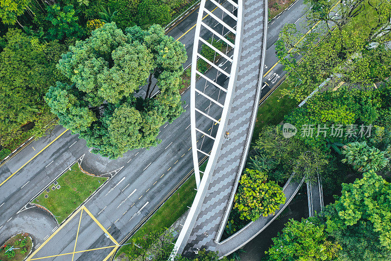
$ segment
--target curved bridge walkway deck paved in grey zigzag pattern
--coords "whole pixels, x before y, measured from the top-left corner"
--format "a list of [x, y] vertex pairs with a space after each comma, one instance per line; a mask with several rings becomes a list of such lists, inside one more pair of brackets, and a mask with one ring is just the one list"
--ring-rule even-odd
[[[224, 228], [229, 214], [232, 204], [230, 199], [238, 186], [257, 115], [264, 62], [262, 56], [266, 34], [265, 24], [267, 24], [265, 1], [243, 0], [242, 21], [239, 70], [227, 124], [230, 138], [222, 141], [207, 193], [183, 251], [187, 256], [193, 255], [195, 248], [219, 251], [219, 256], [226, 255], [226, 251], [237, 248], [232, 244], [230, 249], [223, 248], [224, 244], [216, 243], [215, 240], [220, 240], [220, 234], [217, 235], [219, 228], [220, 226]], [[208, 236], [204, 234], [205, 232]]]

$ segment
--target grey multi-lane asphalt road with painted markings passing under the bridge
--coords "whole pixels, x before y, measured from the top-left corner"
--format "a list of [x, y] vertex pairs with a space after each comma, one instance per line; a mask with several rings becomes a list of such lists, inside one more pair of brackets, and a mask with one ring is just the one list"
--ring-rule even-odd
[[[267, 68], [265, 71], [268, 71], [277, 62], [273, 45], [278, 39], [280, 28], [285, 23], [295, 23], [296, 21], [296, 24], [299, 24], [300, 20], [297, 20], [306, 8], [303, 1], [299, 0], [280, 17], [269, 23], [268, 49], [266, 51]], [[178, 39], [194, 25], [196, 16], [197, 12], [195, 11], [168, 34]], [[218, 26], [216, 30], [218, 30]], [[208, 36], [205, 37], [205, 39], [208, 38]], [[189, 52], [187, 63], [190, 63], [193, 39], [194, 28], [180, 38]], [[209, 73], [211, 77], [216, 77], [213, 75], [214, 71], [209, 71]], [[269, 85], [265, 85], [262, 95], [267, 95], [282, 76], [283, 70], [280, 65], [268, 72], [264, 82]], [[218, 81], [223, 85], [225, 78], [220, 76]], [[202, 81], [197, 82], [197, 86], [201, 86], [201, 88], [204, 85], [205, 83]], [[209, 88], [206, 91], [208, 95], [218, 99], [216, 89]], [[185, 92], [182, 95], [182, 100], [185, 101], [183, 107], [187, 109], [190, 92]], [[197, 107], [208, 109], [209, 105], [209, 103], [202, 103]], [[0, 166], [0, 183], [62, 134], [60, 138], [0, 186], [0, 242], [11, 236], [14, 231], [25, 231], [32, 234], [35, 245], [39, 246], [44, 239], [50, 236], [52, 231], [55, 231], [57, 225], [53, 222], [54, 219], [49, 215], [34, 214], [40, 211], [36, 208], [17, 213], [70, 163], [83, 154], [85, 157], [82, 166], [92, 173], [103, 174], [124, 166], [105, 187], [85, 204], [91, 214], [119, 242], [161, 203], [176, 184], [192, 171], [189, 113], [190, 111], [187, 111], [172, 124], [165, 124], [161, 127], [159, 139], [163, 142], [157, 147], [150, 150], [130, 151], [123, 158], [115, 161], [89, 153], [89, 148], [84, 140], [79, 140], [77, 135], [71, 135], [70, 131], [64, 133], [65, 129], [61, 126], [57, 126], [49, 136], [29, 144], [15, 157]], [[210, 146], [208, 142], [205, 142], [203, 146], [208, 147], [208, 145]], [[31, 224], [34, 222], [42, 224], [41, 233], [39, 228], [31, 229]], [[72, 252], [78, 222], [78, 218], [73, 218], [35, 257]], [[88, 215], [83, 214], [76, 251], [110, 244], [110, 240], [105, 237], [95, 222]], [[75, 260], [77, 258], [79, 260], [101, 260], [108, 253], [108, 249], [102, 249], [87, 252], [84, 255], [76, 254]], [[56, 260], [70, 259], [69, 256], [61, 256]]]

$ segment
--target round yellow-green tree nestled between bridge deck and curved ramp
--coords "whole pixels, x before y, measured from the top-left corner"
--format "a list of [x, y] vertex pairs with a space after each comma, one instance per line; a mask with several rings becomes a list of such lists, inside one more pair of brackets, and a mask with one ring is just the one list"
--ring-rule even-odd
[[274, 214], [285, 203], [282, 188], [274, 181], [266, 182], [267, 174], [246, 168], [235, 194], [234, 208], [241, 219], [257, 220], [261, 215]]

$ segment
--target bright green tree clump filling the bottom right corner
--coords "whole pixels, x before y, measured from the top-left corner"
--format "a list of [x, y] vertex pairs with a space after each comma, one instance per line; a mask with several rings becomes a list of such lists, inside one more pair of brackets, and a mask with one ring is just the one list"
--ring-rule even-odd
[[391, 187], [370, 170], [326, 207], [325, 217], [289, 221], [270, 260], [390, 260]]

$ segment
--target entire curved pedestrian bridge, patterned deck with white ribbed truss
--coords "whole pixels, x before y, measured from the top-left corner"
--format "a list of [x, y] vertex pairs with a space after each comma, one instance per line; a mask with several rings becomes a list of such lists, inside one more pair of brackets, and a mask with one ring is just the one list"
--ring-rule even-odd
[[[201, 0], [199, 8], [191, 74], [191, 134], [197, 193], [173, 255], [191, 256], [199, 248], [218, 251], [221, 257], [257, 234], [257, 231], [239, 232], [220, 242], [258, 111], [266, 51], [267, 0], [209, 0], [214, 5], [208, 7], [205, 1]], [[200, 34], [201, 30], [209, 34]], [[219, 44], [211, 44], [214, 41]], [[212, 60], [205, 57], [202, 45], [215, 53]], [[209, 70], [201, 71], [199, 61], [204, 61]], [[208, 100], [206, 109], [199, 106], [203, 104], [201, 100]], [[226, 131], [230, 133], [229, 139], [224, 138]], [[201, 171], [199, 162], [205, 157], [208, 162]]]

